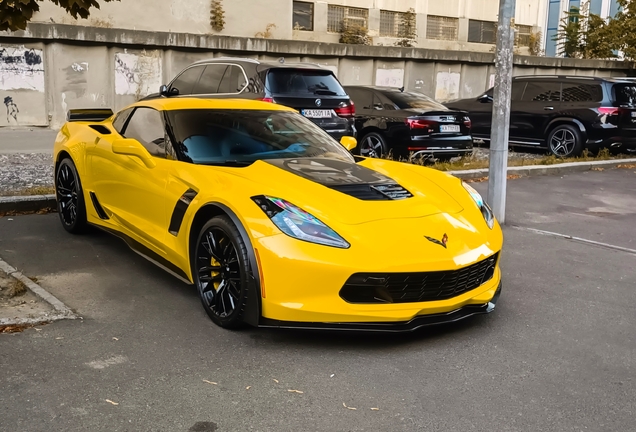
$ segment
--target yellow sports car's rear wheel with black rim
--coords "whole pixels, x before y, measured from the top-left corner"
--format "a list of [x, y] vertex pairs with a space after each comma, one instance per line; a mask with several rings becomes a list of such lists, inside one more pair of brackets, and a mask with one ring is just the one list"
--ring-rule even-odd
[[[70, 176], [73, 178], [71, 179]], [[70, 194], [67, 192], [70, 191]], [[82, 182], [70, 158], [64, 158], [55, 172], [57, 213], [64, 229], [71, 234], [85, 233], [88, 228], [86, 202]], [[70, 205], [69, 205], [70, 204]], [[73, 210], [73, 206], [75, 209]], [[73, 216], [74, 214], [74, 216]]]

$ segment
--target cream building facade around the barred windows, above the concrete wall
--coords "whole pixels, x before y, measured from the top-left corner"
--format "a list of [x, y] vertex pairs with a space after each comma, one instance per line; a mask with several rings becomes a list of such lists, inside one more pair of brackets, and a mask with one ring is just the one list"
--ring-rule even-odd
[[[380, 36], [382, 10], [417, 14], [417, 46], [432, 49], [451, 49], [488, 52], [492, 45], [468, 43], [469, 19], [497, 21], [499, 0], [303, 0], [314, 4], [314, 29], [294, 30], [292, 0], [221, 0], [225, 11], [225, 28], [218, 32], [210, 25], [210, 0], [124, 0], [102, 3], [91, 16], [76, 20], [52, 2], [39, 3], [41, 9], [33, 22], [70, 24], [127, 30], [167, 31], [174, 33], [217, 34], [256, 37], [269, 24], [271, 39], [295, 39], [336, 43], [338, 33], [327, 31], [328, 5], [367, 9], [368, 29], [374, 45], [392, 46], [398, 40]], [[547, 0], [517, 0], [515, 22], [537, 30], [545, 27]], [[427, 15], [459, 19], [459, 38], [456, 41], [426, 38]]]

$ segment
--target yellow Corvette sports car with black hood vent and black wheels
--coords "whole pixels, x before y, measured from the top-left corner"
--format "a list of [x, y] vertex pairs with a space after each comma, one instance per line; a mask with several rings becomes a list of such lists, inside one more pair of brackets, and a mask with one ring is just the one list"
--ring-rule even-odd
[[59, 216], [196, 285], [226, 328], [409, 331], [491, 312], [503, 237], [481, 196], [355, 146], [260, 101], [72, 110], [54, 149]]

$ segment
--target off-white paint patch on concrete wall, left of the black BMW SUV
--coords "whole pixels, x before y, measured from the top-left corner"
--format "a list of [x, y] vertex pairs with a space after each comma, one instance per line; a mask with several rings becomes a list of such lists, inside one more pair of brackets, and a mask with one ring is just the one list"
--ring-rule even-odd
[[156, 93], [161, 85], [161, 59], [142, 53], [115, 54], [115, 94], [137, 99]]

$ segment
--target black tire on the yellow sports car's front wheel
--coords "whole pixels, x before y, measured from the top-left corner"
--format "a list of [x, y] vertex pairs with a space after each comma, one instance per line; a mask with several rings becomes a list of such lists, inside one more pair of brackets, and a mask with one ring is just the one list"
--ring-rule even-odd
[[[204, 241], [204, 236], [207, 235], [208, 232], [215, 231], [223, 233], [226, 238], [231, 242], [234, 247], [234, 251], [236, 252], [236, 258], [238, 259], [238, 269], [240, 273], [240, 288], [238, 298], [236, 300], [236, 304], [231, 313], [223, 316], [219, 311], [216, 311], [212, 305], [210, 304], [210, 299], [206, 298], [204, 293], [204, 282], [201, 281], [201, 272], [199, 269], [201, 263], [202, 255], [200, 253], [200, 247], [204, 247], [202, 245], [202, 241]], [[209, 265], [209, 264], [208, 264]], [[201, 299], [201, 304], [203, 305], [203, 309], [208, 314], [210, 319], [219, 327], [223, 327], [226, 329], [238, 329], [245, 327], [245, 323], [243, 320], [243, 316], [245, 314], [245, 308], [247, 306], [247, 298], [251, 293], [248, 292], [249, 286], [249, 278], [250, 278], [250, 260], [247, 254], [247, 248], [245, 246], [245, 242], [241, 237], [236, 226], [232, 223], [232, 221], [227, 216], [215, 216], [210, 219], [204, 226], [201, 228], [199, 235], [197, 236], [197, 242], [194, 246], [193, 254], [190, 259], [190, 267], [192, 269], [192, 278], [194, 280], [194, 284], [197, 288], [197, 292], [199, 294], [199, 298]], [[212, 282], [208, 282], [212, 283]], [[227, 288], [229, 290], [230, 288]], [[212, 296], [214, 301], [216, 302], [217, 294], [221, 292], [219, 289], [216, 291], [214, 288], [211, 291], [213, 292]], [[228, 291], [229, 292], [229, 291]], [[231, 295], [231, 293], [229, 294]], [[234, 300], [232, 300], [234, 301]], [[218, 307], [218, 306], [217, 306]]]

